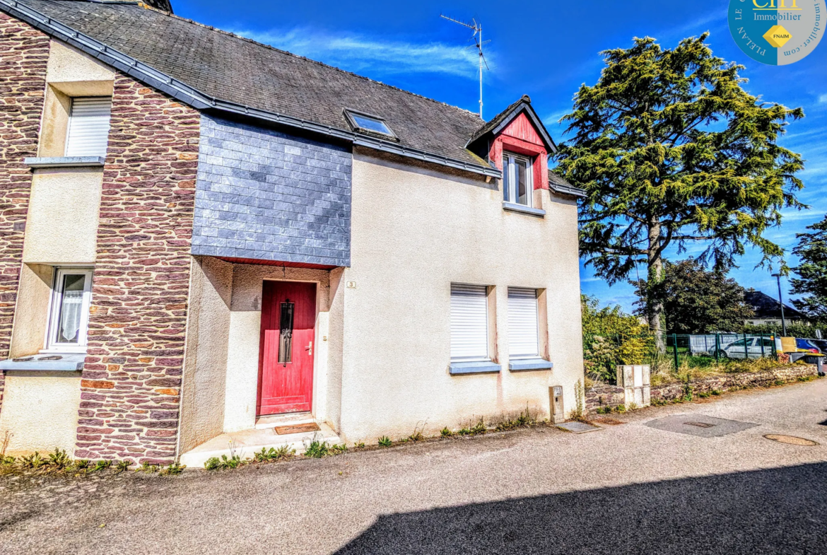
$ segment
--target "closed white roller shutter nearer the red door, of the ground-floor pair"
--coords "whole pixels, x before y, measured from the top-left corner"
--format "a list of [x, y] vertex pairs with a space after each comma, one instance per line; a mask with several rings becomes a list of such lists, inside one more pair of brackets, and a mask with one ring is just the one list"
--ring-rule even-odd
[[485, 285], [451, 284], [451, 360], [488, 358]]

